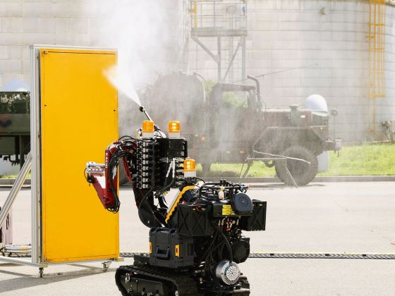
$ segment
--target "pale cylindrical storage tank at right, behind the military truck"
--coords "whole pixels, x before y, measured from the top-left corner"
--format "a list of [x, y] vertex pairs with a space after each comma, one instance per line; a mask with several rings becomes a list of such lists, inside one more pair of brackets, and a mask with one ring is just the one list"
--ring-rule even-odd
[[[321, 94], [329, 109], [339, 109], [336, 133], [346, 142], [377, 137], [381, 121], [395, 119], [393, 3], [385, 5], [386, 87], [385, 97], [375, 100], [376, 113], [368, 95], [369, 1], [249, 0], [247, 15], [246, 73], [267, 74], [260, 85], [268, 107], [302, 105], [308, 95]], [[226, 41], [221, 45], [226, 49]], [[216, 79], [217, 63], [193, 42], [190, 58], [194, 70]], [[370, 132], [373, 121], [376, 135]]]

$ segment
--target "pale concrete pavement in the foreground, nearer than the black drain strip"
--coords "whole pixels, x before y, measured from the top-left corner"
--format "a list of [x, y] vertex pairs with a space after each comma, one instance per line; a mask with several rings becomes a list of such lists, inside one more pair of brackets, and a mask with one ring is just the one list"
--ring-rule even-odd
[[[128, 259], [124, 264], [132, 262], [133, 259]], [[0, 294], [120, 295], [114, 282], [116, 265], [107, 273], [87, 273], [75, 266], [50, 266], [45, 278], [35, 278], [37, 269], [0, 264]], [[253, 296], [392, 296], [395, 291], [395, 260], [249, 259], [241, 268], [250, 280]]]

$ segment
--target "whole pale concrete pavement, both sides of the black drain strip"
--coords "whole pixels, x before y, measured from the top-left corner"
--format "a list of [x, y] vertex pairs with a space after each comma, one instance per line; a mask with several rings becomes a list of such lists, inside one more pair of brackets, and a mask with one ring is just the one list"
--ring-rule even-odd
[[[254, 252], [395, 253], [395, 183], [313, 183], [298, 189], [267, 184], [250, 196], [267, 200], [267, 230], [245, 233]], [[0, 204], [8, 189], [0, 190]], [[98, 201], [99, 202], [99, 201]], [[121, 251], [147, 251], [147, 228], [131, 190], [121, 190]], [[30, 190], [13, 206], [16, 243], [30, 242]], [[143, 239], [144, 238], [144, 239]], [[78, 266], [37, 269], [0, 264], [1, 295], [117, 295], [114, 267], [93, 273]], [[88, 264], [99, 267], [100, 264]], [[241, 264], [252, 295], [394, 295], [395, 260], [248, 259]], [[76, 273], [78, 271], [78, 273]], [[63, 273], [56, 275], [54, 273]]]

